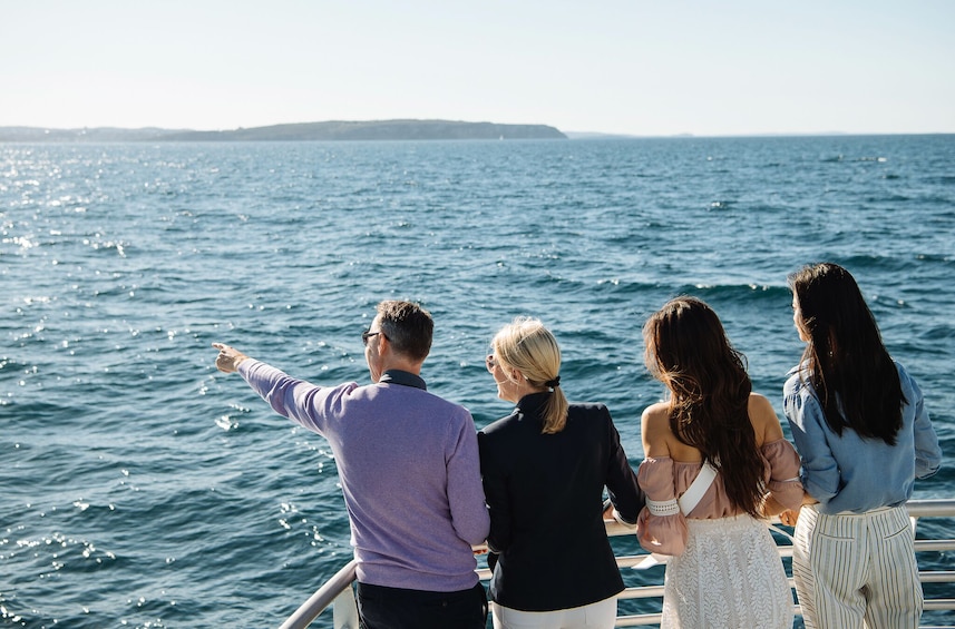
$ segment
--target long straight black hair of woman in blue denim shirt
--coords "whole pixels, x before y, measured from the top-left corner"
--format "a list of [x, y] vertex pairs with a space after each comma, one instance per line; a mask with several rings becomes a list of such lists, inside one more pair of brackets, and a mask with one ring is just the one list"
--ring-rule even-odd
[[855, 278], [837, 264], [821, 263], [788, 279], [797, 323], [809, 338], [802, 360], [829, 427], [895, 445], [905, 396]]

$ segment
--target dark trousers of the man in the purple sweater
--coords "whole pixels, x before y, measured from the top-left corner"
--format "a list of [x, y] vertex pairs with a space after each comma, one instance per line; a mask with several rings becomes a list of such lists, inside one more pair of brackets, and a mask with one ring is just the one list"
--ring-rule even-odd
[[361, 629], [484, 629], [487, 594], [478, 582], [458, 592], [426, 592], [358, 583]]

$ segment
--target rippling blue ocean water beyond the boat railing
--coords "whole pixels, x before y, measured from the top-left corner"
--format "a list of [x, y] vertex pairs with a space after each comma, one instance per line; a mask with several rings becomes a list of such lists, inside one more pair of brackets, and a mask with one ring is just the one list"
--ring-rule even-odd
[[837, 262], [955, 452], [953, 165], [955, 136], [0, 145], [0, 626], [277, 626], [351, 557], [335, 463], [209, 344], [367, 382], [383, 298], [435, 315], [422, 375], [478, 426], [509, 411], [489, 338], [539, 316], [636, 465], [646, 316], [706, 299], [781, 417], [786, 275]]

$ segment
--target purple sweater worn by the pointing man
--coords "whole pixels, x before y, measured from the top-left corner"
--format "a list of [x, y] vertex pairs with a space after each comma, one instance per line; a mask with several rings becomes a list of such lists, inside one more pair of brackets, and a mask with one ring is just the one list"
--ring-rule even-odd
[[406, 372], [329, 387], [254, 360], [238, 373], [276, 413], [329, 441], [359, 581], [441, 592], [477, 583], [471, 546], [485, 541], [490, 520], [467, 409]]

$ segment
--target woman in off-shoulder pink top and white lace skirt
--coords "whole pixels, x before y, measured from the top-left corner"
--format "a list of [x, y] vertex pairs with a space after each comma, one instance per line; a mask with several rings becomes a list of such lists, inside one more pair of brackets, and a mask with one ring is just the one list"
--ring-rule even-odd
[[678, 297], [643, 328], [667, 399], [643, 412], [640, 543], [673, 556], [661, 628], [792, 627], [792, 593], [760, 519], [802, 501], [799, 456], [717, 314]]

